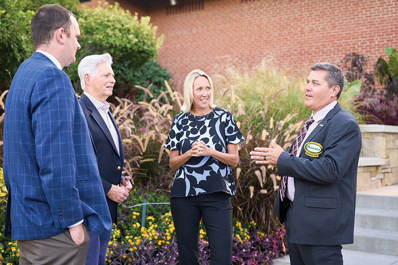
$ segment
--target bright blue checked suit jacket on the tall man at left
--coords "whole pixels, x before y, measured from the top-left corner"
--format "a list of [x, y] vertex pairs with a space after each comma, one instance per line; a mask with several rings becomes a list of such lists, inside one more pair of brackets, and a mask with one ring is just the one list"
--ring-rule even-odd
[[4, 112], [5, 233], [13, 240], [42, 239], [84, 220], [109, 240], [112, 222], [96, 154], [65, 72], [33, 53], [12, 80]]

